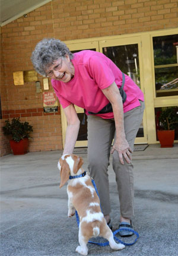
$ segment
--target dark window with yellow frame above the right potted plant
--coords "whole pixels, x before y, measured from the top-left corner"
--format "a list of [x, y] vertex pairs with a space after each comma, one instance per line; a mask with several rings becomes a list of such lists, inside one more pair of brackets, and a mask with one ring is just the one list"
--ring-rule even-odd
[[156, 97], [178, 95], [178, 34], [152, 40]]

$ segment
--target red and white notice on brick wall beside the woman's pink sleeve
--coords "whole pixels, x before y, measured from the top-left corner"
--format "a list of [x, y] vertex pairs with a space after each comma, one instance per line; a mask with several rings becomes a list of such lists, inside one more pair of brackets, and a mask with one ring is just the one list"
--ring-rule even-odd
[[55, 93], [43, 93], [43, 109], [46, 113], [58, 112], [58, 100]]

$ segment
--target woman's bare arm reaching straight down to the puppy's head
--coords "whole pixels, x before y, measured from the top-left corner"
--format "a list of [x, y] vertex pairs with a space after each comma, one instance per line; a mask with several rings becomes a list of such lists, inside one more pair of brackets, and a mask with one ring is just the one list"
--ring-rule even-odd
[[63, 109], [63, 111], [68, 124], [66, 128], [63, 154], [72, 154], [77, 141], [78, 131], [80, 129], [80, 120], [78, 119], [77, 112], [73, 104]]

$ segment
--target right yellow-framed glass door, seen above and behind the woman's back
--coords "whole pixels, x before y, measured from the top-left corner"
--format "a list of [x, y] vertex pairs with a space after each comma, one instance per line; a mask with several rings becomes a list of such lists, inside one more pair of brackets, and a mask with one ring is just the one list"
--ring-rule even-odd
[[[99, 42], [100, 52], [112, 59], [122, 72], [129, 75], [139, 88], [144, 91], [142, 83], [141, 38], [103, 40]], [[147, 143], [145, 114], [136, 135], [135, 143]]]

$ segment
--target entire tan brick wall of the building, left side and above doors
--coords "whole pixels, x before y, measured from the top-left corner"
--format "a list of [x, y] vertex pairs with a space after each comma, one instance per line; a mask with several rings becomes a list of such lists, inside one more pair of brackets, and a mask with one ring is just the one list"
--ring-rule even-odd
[[35, 83], [14, 86], [13, 82], [14, 71], [33, 69], [30, 56], [36, 43], [44, 37], [73, 40], [177, 27], [177, 5], [177, 0], [53, 0], [5, 25], [1, 30], [3, 118], [20, 115], [33, 125], [30, 151], [62, 149], [60, 113], [46, 115], [39, 110], [42, 93], [36, 93]]

